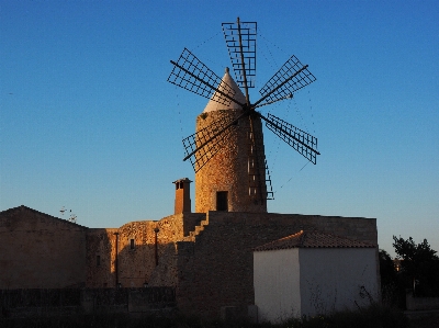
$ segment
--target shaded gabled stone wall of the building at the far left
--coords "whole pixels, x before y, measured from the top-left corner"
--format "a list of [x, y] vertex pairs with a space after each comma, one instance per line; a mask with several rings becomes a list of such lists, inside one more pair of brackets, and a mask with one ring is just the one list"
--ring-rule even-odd
[[86, 284], [88, 228], [20, 206], [0, 213], [0, 289]]

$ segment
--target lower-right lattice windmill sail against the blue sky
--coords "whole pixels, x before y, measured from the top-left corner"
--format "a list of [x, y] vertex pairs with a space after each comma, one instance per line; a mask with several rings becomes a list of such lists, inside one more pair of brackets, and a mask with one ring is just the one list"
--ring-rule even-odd
[[[260, 115], [260, 114], [259, 114]], [[266, 121], [266, 126], [278, 135], [288, 145], [293, 147], [309, 160], [312, 163], [316, 163], [317, 155], [320, 155], [317, 149], [317, 138], [311, 134], [295, 127], [294, 125], [272, 115], [268, 114], [267, 118], [260, 115]]]

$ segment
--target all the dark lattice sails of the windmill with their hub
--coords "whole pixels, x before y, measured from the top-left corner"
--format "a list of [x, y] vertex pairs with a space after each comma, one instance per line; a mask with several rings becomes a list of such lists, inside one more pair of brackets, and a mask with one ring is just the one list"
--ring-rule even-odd
[[[249, 173], [252, 179], [257, 180], [259, 191], [264, 188], [266, 182], [270, 182], [267, 161], [264, 160], [264, 146], [262, 131], [259, 126], [260, 122], [264, 122], [268, 129], [274, 133], [284, 143], [300, 152], [307, 160], [316, 163], [316, 157], [320, 155], [317, 150], [317, 138], [311, 134], [295, 127], [294, 125], [279, 118], [272, 114], [262, 115], [256, 111], [261, 106], [272, 104], [274, 102], [291, 99], [294, 92], [314, 82], [316, 78], [308, 71], [308, 65], [302, 63], [293, 55], [285, 64], [275, 72], [267, 83], [260, 89], [261, 98], [250, 103], [249, 88], [255, 88], [254, 78], [256, 77], [256, 22], [241, 22], [237, 18], [235, 23], [223, 23], [223, 32], [228, 48], [228, 54], [232, 61], [232, 67], [235, 71], [236, 82], [232, 79], [228, 81], [235, 83], [238, 88], [244, 88], [245, 95], [240, 101], [236, 100], [235, 93], [238, 92], [223, 81], [215, 72], [206, 65], [201, 63], [187, 48], [183, 49], [178, 61], [172, 61], [173, 69], [168, 78], [168, 81], [189, 90], [199, 95], [210, 99], [225, 105], [229, 109], [233, 102], [237, 104], [241, 111], [234, 106], [234, 112], [230, 116], [222, 116], [210, 121], [209, 125], [196, 131], [194, 134], [183, 138], [185, 157], [183, 160], [190, 159], [195, 173], [206, 167], [207, 162], [215, 158], [216, 154], [224, 147], [227, 147], [226, 140], [229, 140], [232, 131], [248, 126], [248, 135], [250, 136], [251, 150], [248, 154]], [[249, 80], [249, 77], [251, 79]], [[244, 102], [245, 98], [245, 103]], [[249, 123], [243, 125], [236, 124], [248, 117]], [[262, 120], [262, 121], [260, 121]], [[258, 122], [258, 128], [255, 129], [255, 123]], [[258, 135], [256, 135], [258, 134]], [[243, 147], [245, 148], [245, 147]], [[250, 160], [252, 162], [252, 171], [250, 173]], [[261, 173], [264, 167], [266, 174]], [[268, 177], [266, 181], [262, 181]], [[250, 176], [249, 176], [250, 178]], [[250, 179], [249, 179], [250, 180]], [[270, 184], [271, 185], [271, 184]]]

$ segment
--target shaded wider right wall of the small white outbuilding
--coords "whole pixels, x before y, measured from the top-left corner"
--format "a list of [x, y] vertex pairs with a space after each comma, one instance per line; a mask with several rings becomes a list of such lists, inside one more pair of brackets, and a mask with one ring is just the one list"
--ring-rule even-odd
[[374, 248], [301, 248], [302, 315], [367, 306], [370, 297], [376, 301], [375, 251]]

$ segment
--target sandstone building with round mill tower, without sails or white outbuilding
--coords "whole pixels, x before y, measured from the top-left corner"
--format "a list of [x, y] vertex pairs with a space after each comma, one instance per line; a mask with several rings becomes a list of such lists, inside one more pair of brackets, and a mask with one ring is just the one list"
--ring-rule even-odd
[[[198, 131], [236, 111], [209, 104]], [[119, 228], [87, 228], [25, 206], [0, 212], [0, 289], [172, 286], [184, 314], [218, 317], [234, 306], [246, 315], [255, 303], [254, 248], [299, 230], [378, 247], [374, 218], [267, 213], [264, 171], [254, 169], [263, 142], [258, 156], [248, 143], [261, 124], [252, 124], [233, 126], [226, 147], [196, 171], [195, 213], [187, 178], [173, 182], [172, 215]]]

